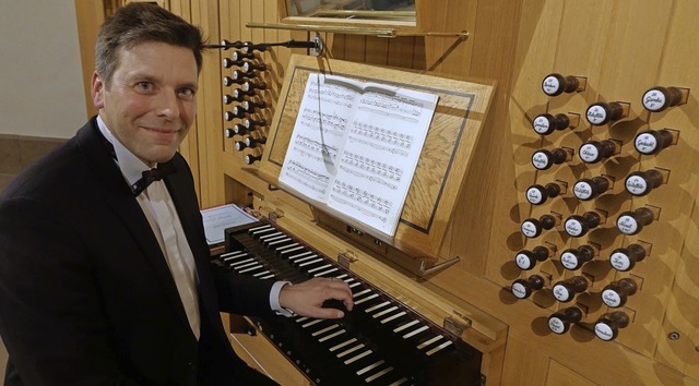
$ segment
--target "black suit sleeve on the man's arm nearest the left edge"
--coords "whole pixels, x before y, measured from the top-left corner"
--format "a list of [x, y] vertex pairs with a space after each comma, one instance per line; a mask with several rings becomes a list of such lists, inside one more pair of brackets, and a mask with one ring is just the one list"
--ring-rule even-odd
[[137, 384], [117, 367], [93, 268], [56, 208], [0, 203], [0, 334], [22, 384]]

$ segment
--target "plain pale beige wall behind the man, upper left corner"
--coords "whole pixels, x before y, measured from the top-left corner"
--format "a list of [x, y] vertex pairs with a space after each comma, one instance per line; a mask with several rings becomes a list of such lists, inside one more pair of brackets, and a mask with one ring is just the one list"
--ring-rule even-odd
[[68, 138], [87, 119], [73, 0], [0, 0], [0, 134]]

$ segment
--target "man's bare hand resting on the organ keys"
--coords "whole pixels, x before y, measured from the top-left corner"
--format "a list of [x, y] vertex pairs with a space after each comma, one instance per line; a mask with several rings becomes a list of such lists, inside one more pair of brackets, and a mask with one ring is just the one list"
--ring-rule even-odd
[[352, 311], [354, 301], [352, 290], [340, 279], [313, 278], [298, 285], [286, 285], [280, 292], [280, 305], [301, 316], [319, 318], [340, 318], [345, 314], [337, 309], [323, 309], [325, 300], [341, 301], [347, 311]]

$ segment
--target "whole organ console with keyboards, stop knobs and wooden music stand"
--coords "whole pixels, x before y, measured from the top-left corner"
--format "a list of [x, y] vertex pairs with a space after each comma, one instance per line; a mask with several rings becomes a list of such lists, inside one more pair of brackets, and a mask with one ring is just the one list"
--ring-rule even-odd
[[[391, 34], [284, 14], [308, 2], [169, 1], [235, 37], [202, 71], [201, 189], [260, 222], [227, 232], [221, 264], [336, 275], [359, 302], [334, 322], [234, 318], [236, 350], [284, 386], [699, 385], [697, 1], [415, 0]], [[299, 114], [287, 83], [311, 70], [439, 94], [394, 239], [274, 179]], [[487, 108], [464, 112], [464, 80], [494, 86]]]

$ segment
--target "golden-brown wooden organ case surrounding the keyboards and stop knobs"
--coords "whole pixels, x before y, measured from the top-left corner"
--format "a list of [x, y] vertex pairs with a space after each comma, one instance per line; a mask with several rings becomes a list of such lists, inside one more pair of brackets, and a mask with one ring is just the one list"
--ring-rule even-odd
[[[212, 40], [311, 39], [312, 33], [246, 26], [279, 24], [285, 3], [163, 1]], [[324, 255], [352, 262], [352, 273], [482, 352], [486, 385], [698, 385], [699, 3], [416, 0], [415, 8], [418, 33], [465, 31], [469, 38], [321, 36], [325, 57], [343, 63], [328, 71], [352, 62], [497, 82], [439, 241], [417, 251], [388, 249], [275, 189], [266, 174], [274, 176], [283, 146], [237, 152], [244, 136], [222, 135], [242, 122], [225, 121], [229, 108], [220, 101], [236, 88], [221, 84], [233, 69], [218, 60], [230, 50], [205, 59], [197, 128], [181, 149], [194, 166], [202, 206], [249, 205]], [[309, 55], [257, 52], [266, 70], [256, 82], [268, 84], [258, 98], [268, 108], [254, 120], [265, 120], [260, 133], [268, 141], [292, 119], [274, 117], [284, 110], [293, 52]], [[564, 92], [552, 92], [555, 84]], [[644, 107], [647, 92], [660, 88], [672, 102]], [[612, 119], [595, 121], [607, 111]], [[652, 142], [657, 150], [645, 147]], [[247, 165], [248, 155], [263, 161]], [[638, 191], [643, 184], [652, 189]], [[642, 229], [629, 230], [635, 224]], [[420, 277], [423, 260], [415, 257], [425, 245], [438, 245], [427, 248], [425, 255], [436, 257], [429, 264], [460, 261]], [[233, 330], [250, 363], [283, 385], [308, 384], [264, 338]]]

